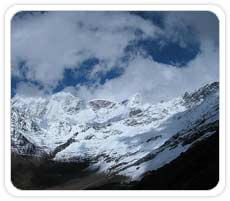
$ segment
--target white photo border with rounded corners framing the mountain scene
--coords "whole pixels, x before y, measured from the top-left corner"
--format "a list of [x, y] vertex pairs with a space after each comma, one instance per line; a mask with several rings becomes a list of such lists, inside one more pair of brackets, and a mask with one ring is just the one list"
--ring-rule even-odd
[[[19, 11], [210, 11], [219, 19], [219, 182], [210, 190], [20, 190], [11, 182], [11, 19]], [[5, 14], [5, 187], [15, 196], [216, 196], [225, 188], [225, 13], [216, 5], [14, 5]]]

